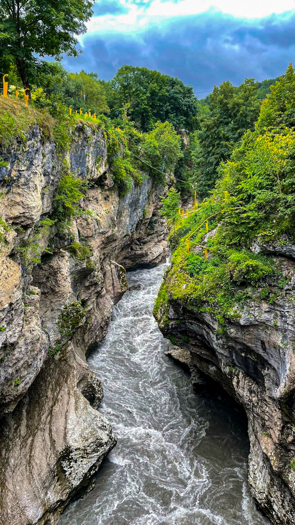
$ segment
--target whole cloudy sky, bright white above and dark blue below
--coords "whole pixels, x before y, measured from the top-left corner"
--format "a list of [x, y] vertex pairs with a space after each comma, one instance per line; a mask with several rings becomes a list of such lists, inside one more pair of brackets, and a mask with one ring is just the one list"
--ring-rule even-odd
[[273, 78], [295, 63], [295, 0], [97, 0], [93, 10], [83, 54], [64, 60], [71, 71], [108, 80], [122, 64], [145, 66], [203, 98], [224, 80]]

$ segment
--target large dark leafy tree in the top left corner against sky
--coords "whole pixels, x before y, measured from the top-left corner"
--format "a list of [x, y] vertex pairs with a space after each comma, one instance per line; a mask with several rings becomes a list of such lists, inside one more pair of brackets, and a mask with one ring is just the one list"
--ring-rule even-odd
[[92, 0], [0, 0], [0, 65], [15, 64], [24, 88], [38, 76], [43, 60], [78, 56], [76, 35], [85, 33]]

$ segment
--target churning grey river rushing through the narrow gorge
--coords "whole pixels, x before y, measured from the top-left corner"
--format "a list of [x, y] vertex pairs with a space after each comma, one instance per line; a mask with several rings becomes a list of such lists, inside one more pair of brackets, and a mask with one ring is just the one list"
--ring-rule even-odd
[[96, 487], [60, 525], [267, 525], [247, 485], [248, 436], [232, 404], [193, 394], [164, 355], [152, 317], [165, 266], [128, 274], [109, 332], [88, 363], [103, 383], [100, 407], [118, 445]]

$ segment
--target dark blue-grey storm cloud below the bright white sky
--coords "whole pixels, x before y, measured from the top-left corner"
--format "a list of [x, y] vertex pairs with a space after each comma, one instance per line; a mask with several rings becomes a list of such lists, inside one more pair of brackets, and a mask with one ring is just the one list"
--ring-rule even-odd
[[[195, 91], [211, 90], [245, 77], [263, 80], [282, 74], [295, 60], [295, 14], [239, 20], [221, 13], [174, 19], [136, 37], [86, 37], [79, 59], [66, 59], [70, 70], [97, 71], [111, 78], [122, 64], [145, 66], [177, 76]], [[199, 97], [205, 95], [200, 94]]]

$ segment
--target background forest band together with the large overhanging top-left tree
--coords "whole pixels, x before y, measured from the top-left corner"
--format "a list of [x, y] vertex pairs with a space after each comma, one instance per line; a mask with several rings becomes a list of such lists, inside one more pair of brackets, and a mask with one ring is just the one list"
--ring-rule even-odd
[[[208, 195], [220, 162], [229, 159], [245, 132], [254, 131], [261, 102], [277, 79], [245, 79], [239, 87], [226, 81], [198, 100], [192, 86], [144, 67], [123, 65], [109, 81], [97, 72], [69, 72], [61, 65], [62, 56], [81, 52], [77, 35], [86, 32], [92, 8], [91, 0], [48, 1], [46, 7], [35, 0], [0, 3], [0, 70], [8, 74], [10, 95], [29, 88], [33, 108], [68, 124], [70, 106], [74, 115], [77, 111], [82, 117], [86, 112], [100, 116], [97, 120], [108, 130], [114, 179], [122, 192], [128, 191], [132, 178], [140, 182], [141, 159], [146, 162], [144, 170], [159, 181], [164, 173], [174, 173], [183, 194], [197, 190], [200, 198]], [[67, 132], [61, 133], [61, 127], [58, 133], [64, 143]], [[123, 130], [118, 137], [113, 127]], [[7, 132], [9, 136], [3, 117], [2, 142]], [[115, 154], [116, 141], [124, 150], [121, 156]]]

